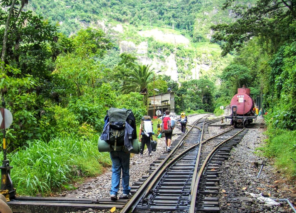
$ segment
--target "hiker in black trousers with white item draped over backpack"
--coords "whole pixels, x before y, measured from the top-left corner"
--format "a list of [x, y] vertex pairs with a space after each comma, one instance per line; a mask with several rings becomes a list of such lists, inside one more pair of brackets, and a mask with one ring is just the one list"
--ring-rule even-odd
[[139, 130], [139, 141], [141, 141], [140, 157], [143, 157], [145, 144], [148, 148], [149, 157], [152, 156], [151, 140], [153, 132], [153, 124], [150, 116], [143, 116], [141, 118], [140, 130]]

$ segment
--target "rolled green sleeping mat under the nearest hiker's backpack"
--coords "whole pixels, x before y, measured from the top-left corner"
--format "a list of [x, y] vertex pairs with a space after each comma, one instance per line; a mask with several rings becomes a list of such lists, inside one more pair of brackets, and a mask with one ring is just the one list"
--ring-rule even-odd
[[[139, 154], [141, 149], [141, 142], [138, 139], [132, 141], [133, 149], [128, 151], [124, 146], [116, 146], [117, 151], [123, 150], [124, 152], [129, 152], [133, 154]], [[114, 150], [114, 146], [110, 146], [105, 140], [99, 138], [98, 140], [98, 150], [99, 152], [111, 152]]]

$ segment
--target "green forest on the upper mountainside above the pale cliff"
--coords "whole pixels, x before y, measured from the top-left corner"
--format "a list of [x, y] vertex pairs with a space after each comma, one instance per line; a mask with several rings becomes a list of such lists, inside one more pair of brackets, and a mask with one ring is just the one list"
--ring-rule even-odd
[[[216, 20], [230, 22], [227, 12], [221, 11], [223, 0], [205, 1], [94, 1], [31, 0], [25, 7], [52, 24], [59, 25], [59, 32], [65, 35], [77, 32], [81, 26], [89, 26], [97, 20], [113, 20], [135, 27], [169, 27], [185, 31], [196, 41], [208, 41], [209, 27]], [[250, 2], [250, 1], [244, 1]], [[209, 19], [209, 20], [208, 20]], [[196, 21], [197, 20], [197, 21]]]

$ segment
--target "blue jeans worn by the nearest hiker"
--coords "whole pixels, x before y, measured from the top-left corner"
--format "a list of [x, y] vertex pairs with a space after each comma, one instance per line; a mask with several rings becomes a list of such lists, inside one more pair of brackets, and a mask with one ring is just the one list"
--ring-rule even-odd
[[110, 194], [118, 194], [120, 175], [122, 171], [122, 188], [123, 194], [129, 194], [131, 187], [129, 186], [129, 160], [131, 153], [123, 151], [111, 151], [110, 158], [112, 161], [112, 178]]

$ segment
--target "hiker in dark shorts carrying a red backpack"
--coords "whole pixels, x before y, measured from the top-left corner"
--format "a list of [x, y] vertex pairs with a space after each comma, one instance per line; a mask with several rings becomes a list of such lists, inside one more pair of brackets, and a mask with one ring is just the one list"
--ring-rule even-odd
[[170, 117], [170, 110], [165, 111], [165, 117], [161, 125], [161, 132], [165, 134], [166, 150], [170, 152], [170, 141], [172, 140], [173, 129], [175, 127], [175, 119]]

